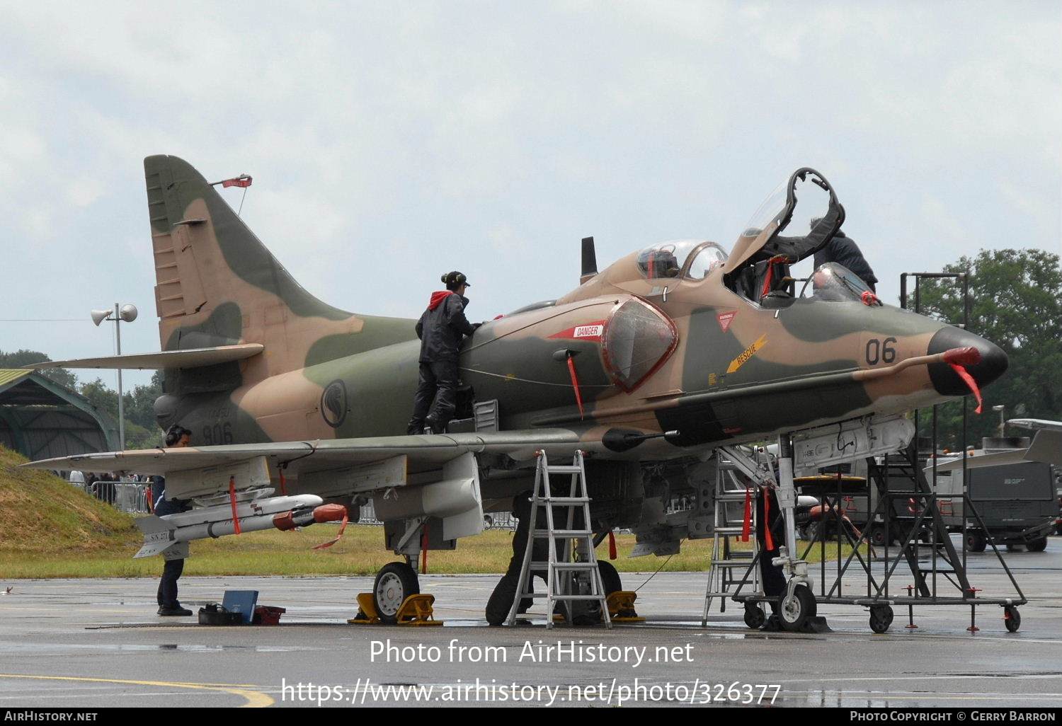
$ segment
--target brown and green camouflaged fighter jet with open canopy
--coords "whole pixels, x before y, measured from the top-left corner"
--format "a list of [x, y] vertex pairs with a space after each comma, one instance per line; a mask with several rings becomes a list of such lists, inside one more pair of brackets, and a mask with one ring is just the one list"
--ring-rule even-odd
[[[798, 294], [791, 265], [844, 220], [826, 179], [801, 169], [729, 254], [676, 240], [598, 272], [584, 240], [581, 284], [480, 327], [461, 352], [458, 420], [408, 436], [414, 322], [313, 297], [182, 159], [144, 171], [162, 351], [49, 365], [165, 368], [158, 424], [191, 429], [194, 446], [32, 466], [166, 474], [170, 496], [205, 507], [156, 524], [139, 554], [272, 526], [287, 505], [294, 525], [322, 501], [372, 500], [387, 548], [406, 555], [377, 576], [384, 618], [418, 591], [421, 548], [452, 548], [484, 511], [509, 509], [538, 450], [585, 451], [594, 530], [633, 528], [664, 553], [707, 536], [690, 472], [715, 448], [894, 416], [1007, 367], [992, 343], [883, 305], [835, 263]], [[666, 514], [683, 495], [697, 505]]]

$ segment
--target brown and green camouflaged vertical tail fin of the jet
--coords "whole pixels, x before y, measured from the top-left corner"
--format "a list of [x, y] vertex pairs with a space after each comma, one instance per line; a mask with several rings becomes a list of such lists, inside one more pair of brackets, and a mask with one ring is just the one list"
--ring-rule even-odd
[[413, 335], [407, 321], [355, 316], [304, 290], [187, 161], [159, 155], [143, 166], [161, 350], [263, 346], [244, 361], [167, 367], [168, 393], [228, 390], [295, 370], [320, 362], [314, 346], [345, 356]]

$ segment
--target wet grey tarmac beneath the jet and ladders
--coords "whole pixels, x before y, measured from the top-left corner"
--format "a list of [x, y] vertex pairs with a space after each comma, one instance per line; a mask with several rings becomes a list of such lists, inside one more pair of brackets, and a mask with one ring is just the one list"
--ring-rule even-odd
[[[497, 575], [422, 575], [442, 627], [348, 625], [370, 577], [184, 577], [198, 610], [225, 590], [287, 608], [274, 626], [155, 615], [151, 580], [0, 582], [0, 707], [830, 706], [1062, 708], [1062, 537], [1006, 554], [1028, 603], [1009, 633], [998, 605], [906, 607], [874, 634], [858, 605], [820, 604], [829, 633], [765, 633], [713, 604], [706, 573], [624, 575], [640, 624], [546, 628], [542, 602], [489, 627]], [[827, 575], [829, 573], [827, 572]], [[812, 568], [812, 576], [820, 571]], [[981, 598], [1016, 592], [991, 551], [971, 554]], [[939, 593], [953, 595], [943, 575]], [[891, 591], [903, 594], [909, 575]], [[845, 597], [866, 575], [845, 577]]]

